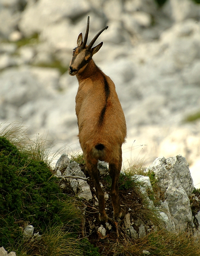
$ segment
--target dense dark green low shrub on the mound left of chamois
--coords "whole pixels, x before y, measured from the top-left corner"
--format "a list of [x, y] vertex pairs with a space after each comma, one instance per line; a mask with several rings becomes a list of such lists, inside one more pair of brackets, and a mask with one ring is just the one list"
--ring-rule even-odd
[[0, 244], [4, 248], [19, 243], [27, 223], [41, 234], [47, 226], [80, 221], [48, 165], [29, 159], [4, 137], [0, 137], [0, 213]]

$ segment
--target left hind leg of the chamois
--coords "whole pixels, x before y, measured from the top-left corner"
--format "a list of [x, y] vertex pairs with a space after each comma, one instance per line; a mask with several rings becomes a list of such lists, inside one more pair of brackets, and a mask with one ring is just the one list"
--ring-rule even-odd
[[94, 163], [86, 161], [86, 168], [88, 170], [90, 177], [94, 181], [96, 197], [99, 201], [99, 221], [105, 223], [108, 221], [108, 215], [105, 212], [105, 199], [103, 189], [101, 188], [99, 183], [97, 163], [97, 160], [95, 160]]

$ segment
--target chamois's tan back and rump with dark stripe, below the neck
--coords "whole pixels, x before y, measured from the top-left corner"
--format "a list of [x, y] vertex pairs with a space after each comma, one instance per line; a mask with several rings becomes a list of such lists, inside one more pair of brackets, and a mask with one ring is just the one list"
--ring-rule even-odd
[[[109, 157], [111, 152], [116, 155], [115, 151], [125, 142], [127, 129], [114, 83], [103, 72], [96, 75], [99, 79], [90, 77], [79, 84], [76, 96], [79, 141], [95, 158], [106, 161], [108, 152]], [[102, 156], [95, 154], [99, 150], [103, 150]]]

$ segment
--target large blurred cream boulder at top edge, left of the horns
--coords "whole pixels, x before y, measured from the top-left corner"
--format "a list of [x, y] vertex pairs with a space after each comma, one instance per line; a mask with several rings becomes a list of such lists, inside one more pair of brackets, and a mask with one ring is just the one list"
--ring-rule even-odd
[[[52, 24], [59, 24], [59, 22], [69, 20], [70, 18], [76, 19], [89, 10], [90, 5], [86, 0], [40, 0], [26, 7], [19, 22], [19, 28], [24, 35], [30, 36], [33, 33], [40, 33], [46, 30]], [[68, 24], [68, 28], [70, 27], [70, 24]]]

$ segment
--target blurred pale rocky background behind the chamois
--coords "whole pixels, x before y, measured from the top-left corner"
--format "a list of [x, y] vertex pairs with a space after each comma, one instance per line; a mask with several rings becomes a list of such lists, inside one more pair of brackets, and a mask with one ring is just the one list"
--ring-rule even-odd
[[24, 122], [54, 150], [80, 150], [67, 69], [90, 15], [94, 61], [127, 120], [123, 162], [182, 154], [200, 187], [199, 0], [0, 0], [0, 123]]

